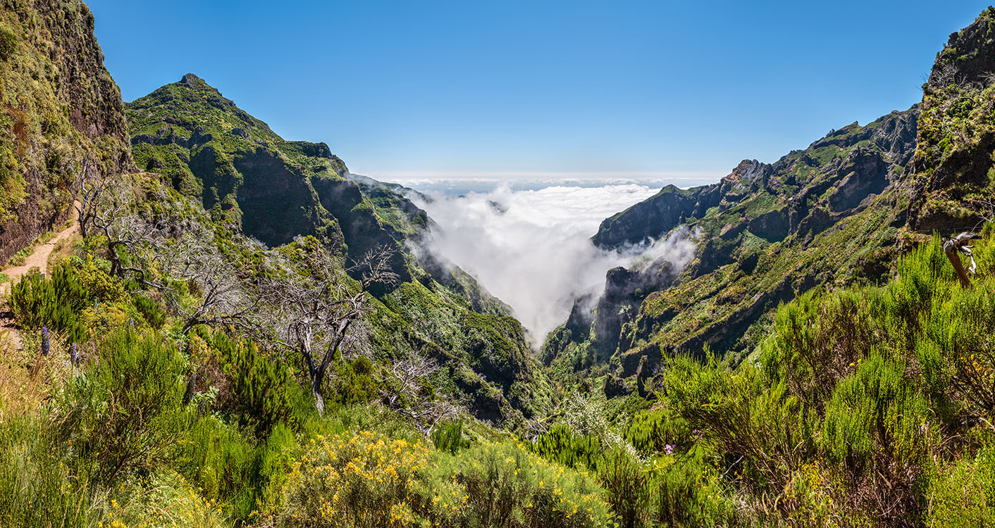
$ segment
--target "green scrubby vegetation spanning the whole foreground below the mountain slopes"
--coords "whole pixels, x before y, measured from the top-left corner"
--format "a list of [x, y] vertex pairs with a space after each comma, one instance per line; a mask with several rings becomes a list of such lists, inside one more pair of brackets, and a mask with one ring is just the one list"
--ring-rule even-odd
[[[195, 220], [186, 229], [211, 240]], [[13, 288], [24, 345], [0, 354], [3, 526], [995, 522], [992, 225], [971, 288], [936, 236], [882, 286], [782, 306], [734, 368], [677, 356], [649, 399], [575, 393], [517, 435], [446, 407], [410, 363], [347, 346], [332, 349], [319, 408], [306, 358], [268, 340], [272, 319], [205, 306], [214, 292], [274, 311], [250, 284], [307, 283], [320, 248], [216, 237], [181, 255], [217, 272], [181, 279], [199, 268], [165, 265], [185, 240], [170, 225], [114, 261], [91, 230]], [[212, 286], [225, 259], [252, 279]]]

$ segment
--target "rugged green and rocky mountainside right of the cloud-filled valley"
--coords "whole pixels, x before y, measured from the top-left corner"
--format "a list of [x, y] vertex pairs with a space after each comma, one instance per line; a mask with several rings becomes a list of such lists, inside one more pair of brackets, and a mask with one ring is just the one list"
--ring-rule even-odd
[[[697, 234], [696, 259], [669, 280], [659, 280], [663, 263], [613, 269], [592, 339], [574, 346], [614, 353], [626, 376], [641, 361], [657, 364], [664, 349], [745, 353], [779, 302], [818, 284], [880, 277], [905, 223], [917, 116], [912, 107], [853, 123], [772, 164], [743, 160], [716, 184], [667, 187], [605, 220], [592, 239], [601, 248], [686, 226]], [[547, 356], [569, 355], [562, 341]]]

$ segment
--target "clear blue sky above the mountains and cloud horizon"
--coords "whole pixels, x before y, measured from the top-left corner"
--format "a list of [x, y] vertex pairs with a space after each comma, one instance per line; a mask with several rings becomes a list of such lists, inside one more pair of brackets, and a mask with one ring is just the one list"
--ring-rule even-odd
[[385, 179], [717, 179], [918, 101], [947, 36], [988, 5], [88, 4], [125, 100], [192, 72], [284, 137]]

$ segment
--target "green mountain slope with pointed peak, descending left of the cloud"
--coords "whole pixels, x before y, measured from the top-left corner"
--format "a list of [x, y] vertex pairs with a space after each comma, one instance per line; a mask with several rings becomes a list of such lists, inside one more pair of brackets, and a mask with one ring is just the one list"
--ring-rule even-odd
[[346, 261], [393, 250], [400, 280], [372, 290], [367, 321], [378, 358], [434, 357], [445, 367], [437, 386], [483, 419], [547, 407], [548, 382], [507, 307], [458, 267], [412, 251], [431, 219], [403, 188], [349, 174], [325, 143], [283, 139], [192, 74], [125, 111], [135, 163], [199, 200], [215, 223], [269, 246], [312, 236]]

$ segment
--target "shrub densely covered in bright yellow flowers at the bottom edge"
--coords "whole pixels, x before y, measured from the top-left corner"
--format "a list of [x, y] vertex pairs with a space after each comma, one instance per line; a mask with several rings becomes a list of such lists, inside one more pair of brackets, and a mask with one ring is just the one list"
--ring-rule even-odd
[[286, 485], [288, 526], [411, 526], [413, 493], [431, 450], [421, 441], [377, 433], [318, 436], [305, 447]]

